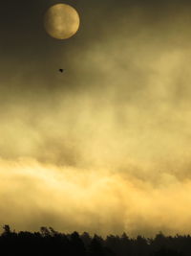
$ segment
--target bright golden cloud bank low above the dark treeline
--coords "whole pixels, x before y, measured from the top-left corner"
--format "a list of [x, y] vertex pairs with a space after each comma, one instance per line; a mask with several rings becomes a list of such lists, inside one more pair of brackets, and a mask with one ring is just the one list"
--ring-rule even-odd
[[17, 230], [52, 225], [102, 235], [189, 232], [189, 179], [163, 173], [156, 185], [128, 173], [58, 168], [32, 159], [1, 160], [0, 166], [0, 220]]

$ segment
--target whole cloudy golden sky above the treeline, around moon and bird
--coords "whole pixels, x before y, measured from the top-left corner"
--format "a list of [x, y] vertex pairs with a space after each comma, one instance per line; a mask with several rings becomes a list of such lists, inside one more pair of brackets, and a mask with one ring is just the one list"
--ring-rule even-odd
[[[43, 27], [56, 3], [80, 16], [66, 40]], [[185, 0], [1, 3], [1, 225], [191, 232], [190, 13]]]

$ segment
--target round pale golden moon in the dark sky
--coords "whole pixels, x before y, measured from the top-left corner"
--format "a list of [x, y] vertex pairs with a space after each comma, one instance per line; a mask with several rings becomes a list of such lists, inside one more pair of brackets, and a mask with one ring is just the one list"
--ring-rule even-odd
[[48, 35], [56, 39], [67, 39], [79, 29], [79, 15], [72, 6], [56, 4], [44, 15], [44, 27]]

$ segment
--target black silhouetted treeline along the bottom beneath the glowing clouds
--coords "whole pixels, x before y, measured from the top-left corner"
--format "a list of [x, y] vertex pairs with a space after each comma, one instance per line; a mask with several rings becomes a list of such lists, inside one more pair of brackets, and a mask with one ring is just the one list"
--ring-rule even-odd
[[64, 234], [52, 227], [41, 227], [39, 232], [11, 231], [3, 227], [0, 235], [0, 256], [191, 256], [191, 236], [164, 236], [153, 239], [138, 236], [129, 238], [109, 235], [105, 239], [87, 232]]

